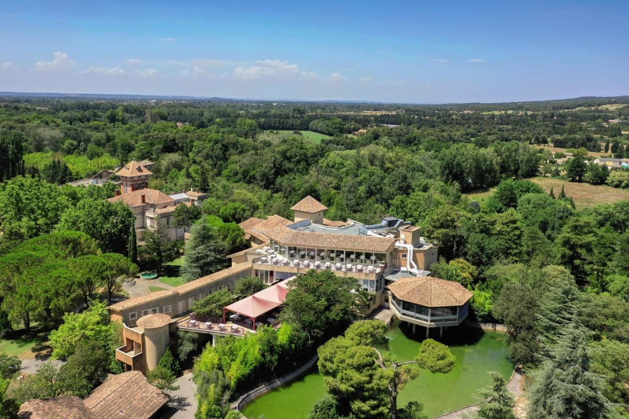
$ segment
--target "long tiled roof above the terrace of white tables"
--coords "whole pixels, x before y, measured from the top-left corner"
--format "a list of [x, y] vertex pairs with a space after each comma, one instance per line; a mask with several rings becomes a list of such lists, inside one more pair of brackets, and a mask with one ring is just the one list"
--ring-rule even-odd
[[[257, 227], [254, 231], [257, 230]], [[299, 247], [318, 247], [324, 249], [367, 250], [372, 252], [388, 252], [395, 238], [359, 236], [353, 234], [333, 234], [299, 232], [286, 226], [279, 226], [265, 232], [267, 237], [284, 245]]]

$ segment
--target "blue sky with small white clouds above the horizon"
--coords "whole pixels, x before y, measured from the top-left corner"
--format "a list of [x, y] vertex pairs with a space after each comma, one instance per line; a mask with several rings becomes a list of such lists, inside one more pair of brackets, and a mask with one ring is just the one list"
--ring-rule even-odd
[[0, 91], [413, 103], [629, 94], [629, 1], [13, 1]]

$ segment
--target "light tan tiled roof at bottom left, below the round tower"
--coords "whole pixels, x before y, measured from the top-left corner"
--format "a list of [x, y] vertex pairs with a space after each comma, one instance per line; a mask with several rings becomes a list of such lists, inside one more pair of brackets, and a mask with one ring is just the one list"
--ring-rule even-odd
[[148, 419], [167, 400], [142, 372], [128, 371], [110, 377], [84, 403], [98, 418]]

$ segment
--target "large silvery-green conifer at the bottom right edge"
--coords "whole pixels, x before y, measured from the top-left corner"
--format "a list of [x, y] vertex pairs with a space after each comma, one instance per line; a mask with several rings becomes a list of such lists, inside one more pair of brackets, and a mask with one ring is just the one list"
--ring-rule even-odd
[[601, 378], [589, 371], [584, 332], [576, 316], [559, 335], [530, 393], [528, 419], [603, 419], [610, 401], [599, 390]]

